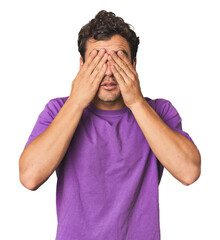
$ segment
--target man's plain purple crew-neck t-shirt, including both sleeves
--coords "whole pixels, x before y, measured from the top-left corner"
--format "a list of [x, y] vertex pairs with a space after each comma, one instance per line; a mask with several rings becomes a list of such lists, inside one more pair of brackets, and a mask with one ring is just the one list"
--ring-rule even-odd
[[[25, 146], [50, 125], [67, 98], [46, 104]], [[145, 100], [192, 141], [169, 101]], [[131, 110], [101, 110], [91, 102], [56, 170], [56, 240], [159, 240], [162, 173]]]

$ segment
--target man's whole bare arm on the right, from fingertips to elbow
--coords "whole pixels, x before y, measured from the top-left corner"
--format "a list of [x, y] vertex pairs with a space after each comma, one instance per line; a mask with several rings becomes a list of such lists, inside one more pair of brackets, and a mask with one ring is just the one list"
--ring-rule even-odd
[[152, 151], [161, 164], [184, 185], [200, 176], [201, 157], [193, 142], [172, 130], [144, 99], [138, 74], [122, 51], [112, 51], [109, 61], [124, 103], [131, 109]]

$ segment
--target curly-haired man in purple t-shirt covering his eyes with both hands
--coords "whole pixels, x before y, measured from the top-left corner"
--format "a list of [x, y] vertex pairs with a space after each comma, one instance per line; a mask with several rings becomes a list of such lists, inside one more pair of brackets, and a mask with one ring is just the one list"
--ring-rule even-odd
[[21, 154], [30, 190], [56, 170], [57, 240], [158, 240], [164, 167], [184, 185], [199, 178], [200, 153], [177, 110], [141, 93], [138, 44], [111, 12], [86, 24], [70, 95], [46, 104]]

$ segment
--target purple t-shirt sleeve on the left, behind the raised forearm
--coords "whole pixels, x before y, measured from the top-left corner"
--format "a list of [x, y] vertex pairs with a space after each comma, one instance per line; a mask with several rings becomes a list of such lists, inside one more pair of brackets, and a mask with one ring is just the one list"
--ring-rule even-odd
[[[62, 102], [59, 99], [51, 99], [44, 107], [43, 111], [39, 114], [34, 128], [28, 138], [25, 147], [44, 132], [48, 126], [52, 123], [57, 113], [62, 107]], [[24, 148], [25, 148], [24, 147]]]

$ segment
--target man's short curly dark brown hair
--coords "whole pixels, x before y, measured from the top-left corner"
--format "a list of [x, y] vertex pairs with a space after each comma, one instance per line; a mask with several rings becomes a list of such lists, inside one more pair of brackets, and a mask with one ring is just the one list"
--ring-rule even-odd
[[78, 50], [83, 58], [83, 62], [85, 62], [86, 42], [89, 38], [108, 40], [116, 34], [121, 35], [128, 41], [131, 50], [131, 60], [134, 60], [140, 41], [130, 26], [122, 18], [116, 17], [113, 12], [100, 11], [79, 32]]

